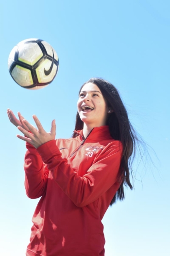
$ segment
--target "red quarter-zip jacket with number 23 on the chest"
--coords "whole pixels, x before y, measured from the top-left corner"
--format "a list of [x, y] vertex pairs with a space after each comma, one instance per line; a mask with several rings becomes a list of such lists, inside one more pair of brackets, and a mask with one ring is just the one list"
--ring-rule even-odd
[[119, 189], [122, 144], [107, 126], [93, 128], [85, 141], [77, 133], [38, 149], [27, 143], [26, 193], [41, 196], [27, 256], [104, 256], [101, 220]]

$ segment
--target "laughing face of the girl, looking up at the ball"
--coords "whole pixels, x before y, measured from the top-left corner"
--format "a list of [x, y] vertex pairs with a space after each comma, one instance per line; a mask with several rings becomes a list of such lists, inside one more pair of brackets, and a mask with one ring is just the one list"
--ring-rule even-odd
[[77, 108], [81, 120], [87, 126], [93, 128], [106, 125], [109, 109], [97, 85], [88, 83], [83, 86], [79, 94]]

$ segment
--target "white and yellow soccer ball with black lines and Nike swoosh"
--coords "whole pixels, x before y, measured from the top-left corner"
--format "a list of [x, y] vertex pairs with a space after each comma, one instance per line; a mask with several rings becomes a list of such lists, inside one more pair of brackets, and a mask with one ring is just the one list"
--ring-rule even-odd
[[18, 43], [8, 58], [8, 69], [15, 82], [27, 89], [40, 89], [55, 78], [59, 66], [57, 53], [40, 39]]

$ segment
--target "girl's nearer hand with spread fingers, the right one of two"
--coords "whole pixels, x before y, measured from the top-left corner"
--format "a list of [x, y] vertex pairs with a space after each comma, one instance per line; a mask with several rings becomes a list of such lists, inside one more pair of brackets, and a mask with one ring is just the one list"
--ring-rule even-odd
[[55, 120], [52, 121], [51, 124], [51, 131], [50, 132], [46, 132], [44, 130], [44, 128], [42, 127], [40, 121], [38, 120], [38, 118], [33, 115], [34, 118], [34, 122], [37, 126], [38, 129], [34, 128], [34, 126], [32, 126], [30, 123], [28, 123], [28, 121], [26, 121], [25, 119], [22, 121], [24, 123], [24, 125], [27, 126], [27, 128], [32, 132], [30, 133], [29, 131], [25, 130], [24, 128], [22, 128], [21, 126], [18, 126], [18, 130], [20, 130], [26, 137], [23, 137], [21, 135], [17, 134], [17, 138], [27, 141], [30, 144], [32, 144], [34, 146], [35, 149], [37, 149], [39, 146], [41, 146], [42, 144], [50, 141], [50, 140], [54, 140], [55, 139], [55, 130], [56, 130], [56, 125], [55, 125]]

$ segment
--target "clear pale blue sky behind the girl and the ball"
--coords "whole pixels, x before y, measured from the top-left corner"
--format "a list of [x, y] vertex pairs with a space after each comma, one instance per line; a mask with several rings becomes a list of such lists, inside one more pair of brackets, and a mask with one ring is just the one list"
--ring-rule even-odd
[[[11, 49], [39, 38], [56, 50], [60, 66], [51, 85], [31, 91], [11, 78]], [[91, 77], [113, 83], [129, 117], [156, 152], [145, 159], [135, 190], [103, 218], [106, 256], [170, 255], [170, 1], [0, 1], [0, 255], [24, 256], [38, 200], [24, 190], [25, 145], [6, 109], [33, 123], [36, 114], [57, 138], [71, 136], [80, 86]]]

